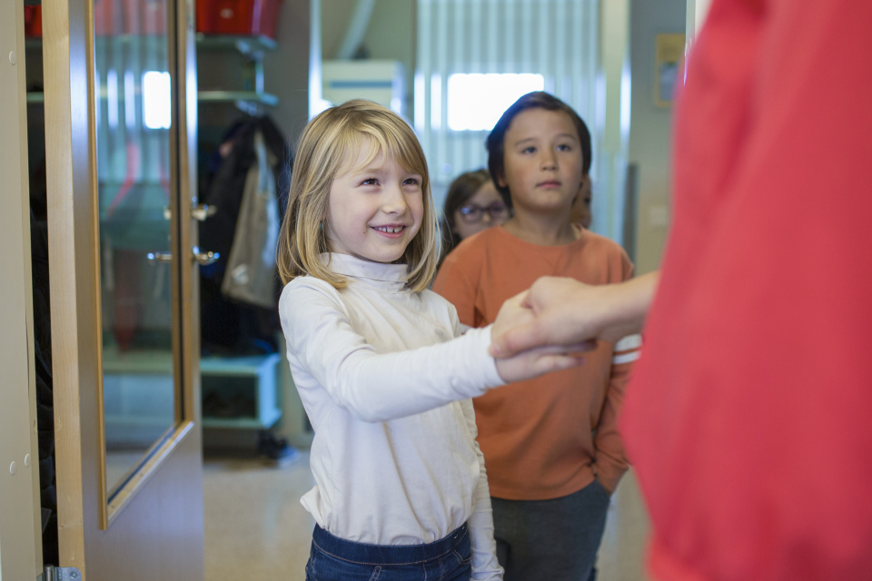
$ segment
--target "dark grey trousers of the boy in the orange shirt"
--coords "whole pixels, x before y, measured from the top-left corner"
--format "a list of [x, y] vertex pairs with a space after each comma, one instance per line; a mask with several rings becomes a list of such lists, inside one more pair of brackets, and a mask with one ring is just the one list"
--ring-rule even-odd
[[490, 498], [505, 581], [594, 581], [609, 493], [594, 480], [568, 497]]

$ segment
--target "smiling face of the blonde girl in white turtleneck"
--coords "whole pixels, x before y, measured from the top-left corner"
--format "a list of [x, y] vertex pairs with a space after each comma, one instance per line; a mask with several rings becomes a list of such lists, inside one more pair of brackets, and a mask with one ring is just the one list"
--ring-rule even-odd
[[376, 147], [365, 140], [352, 169], [333, 180], [324, 233], [332, 252], [393, 262], [421, 228], [422, 176], [381, 151], [373, 157]]

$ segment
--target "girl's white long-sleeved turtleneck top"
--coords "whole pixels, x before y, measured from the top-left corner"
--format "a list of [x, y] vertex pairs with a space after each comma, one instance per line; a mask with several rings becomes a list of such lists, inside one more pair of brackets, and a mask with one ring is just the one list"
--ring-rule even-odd
[[472, 578], [501, 579], [470, 399], [503, 383], [490, 328], [461, 336], [451, 303], [405, 287], [404, 264], [329, 260], [347, 288], [303, 276], [279, 300], [315, 430], [303, 507], [336, 537], [376, 545], [431, 543], [469, 522]]

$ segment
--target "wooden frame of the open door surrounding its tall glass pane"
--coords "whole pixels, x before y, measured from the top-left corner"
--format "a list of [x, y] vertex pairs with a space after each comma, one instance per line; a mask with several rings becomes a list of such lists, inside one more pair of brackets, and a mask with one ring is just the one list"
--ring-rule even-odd
[[[172, 137], [173, 169], [177, 170], [173, 188], [179, 189], [179, 198], [185, 202], [171, 208], [170, 227], [181, 247], [190, 249], [195, 234], [186, 201], [196, 180], [195, 175], [189, 175], [190, 168], [196, 167], [196, 140], [192, 137], [196, 131], [193, 5], [191, 0], [170, 0], [168, 5], [178, 8], [169, 22], [179, 31], [183, 47], [170, 53], [170, 63], [182, 64], [179, 70], [185, 72], [183, 83], [173, 82], [176, 132]], [[198, 507], [188, 506], [190, 499], [178, 492], [177, 485], [183, 478], [186, 486], [202, 490], [198, 332], [183, 335], [184, 350], [195, 354], [193, 357], [183, 360], [178, 351], [173, 356], [175, 379], [184, 386], [173, 434], [125, 485], [119, 503], [108, 507], [105, 499], [104, 468], [99, 459], [104, 457], [105, 448], [100, 274], [95, 251], [99, 210], [94, 45], [88, 42], [94, 34], [92, 11], [90, 0], [43, 0], [59, 565], [78, 568], [83, 581], [88, 580], [92, 566], [90, 570], [103, 572], [106, 578], [195, 579], [203, 572], [202, 501]], [[180, 165], [178, 153], [183, 151], [194, 156]], [[199, 329], [197, 271], [189, 252], [173, 262], [175, 338], [180, 336], [182, 320], [192, 321], [192, 329]], [[142, 492], [145, 487], [147, 498]], [[166, 522], [154, 523], [153, 515], [163, 513], [168, 515]], [[173, 528], [175, 536], [161, 537], [163, 527]], [[157, 555], [145, 555], [144, 550], [123, 553], [147, 543], [154, 543]]]

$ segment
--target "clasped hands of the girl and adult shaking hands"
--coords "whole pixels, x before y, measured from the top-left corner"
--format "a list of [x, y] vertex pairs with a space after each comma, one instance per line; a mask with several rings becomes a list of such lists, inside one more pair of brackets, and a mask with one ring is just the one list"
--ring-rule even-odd
[[597, 340], [639, 332], [658, 283], [659, 273], [595, 286], [540, 278], [503, 303], [490, 330], [490, 355], [500, 378], [522, 381], [577, 367]]

